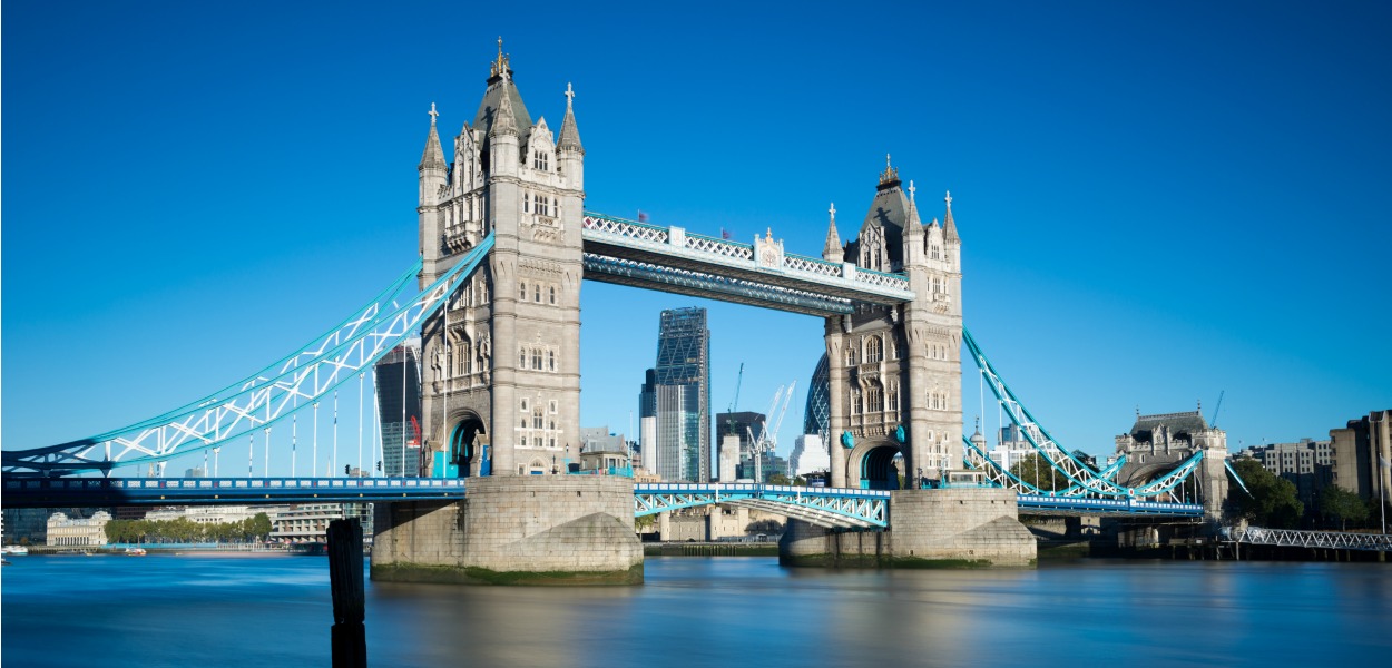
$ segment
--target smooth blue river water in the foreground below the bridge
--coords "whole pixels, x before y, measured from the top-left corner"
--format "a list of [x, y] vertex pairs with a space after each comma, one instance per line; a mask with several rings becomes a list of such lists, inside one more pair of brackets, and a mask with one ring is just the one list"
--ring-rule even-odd
[[[17, 557], [4, 667], [330, 664], [323, 557]], [[649, 558], [636, 587], [367, 583], [374, 667], [1389, 665], [1392, 565], [785, 569]]]

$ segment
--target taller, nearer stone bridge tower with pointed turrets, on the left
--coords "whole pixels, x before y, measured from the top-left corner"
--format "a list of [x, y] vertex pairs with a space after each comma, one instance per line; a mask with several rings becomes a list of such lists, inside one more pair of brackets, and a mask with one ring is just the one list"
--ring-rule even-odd
[[565, 96], [557, 138], [532, 121], [500, 40], [451, 163], [430, 107], [420, 285], [489, 232], [496, 244], [422, 327], [422, 452], [436, 476], [553, 473], [578, 456], [585, 149], [569, 85]]

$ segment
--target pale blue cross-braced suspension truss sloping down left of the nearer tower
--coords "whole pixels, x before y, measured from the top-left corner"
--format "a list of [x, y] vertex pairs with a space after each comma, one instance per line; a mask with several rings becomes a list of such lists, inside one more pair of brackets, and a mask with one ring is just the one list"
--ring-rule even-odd
[[484, 237], [458, 264], [405, 306], [402, 288], [420, 264], [329, 334], [298, 352], [180, 409], [79, 441], [47, 448], [6, 451], [10, 475], [60, 476], [109, 472], [120, 466], [164, 462], [173, 456], [217, 448], [267, 429], [295, 411], [313, 406], [335, 387], [372, 365], [415, 333], [448, 294], [468, 278], [493, 248]]

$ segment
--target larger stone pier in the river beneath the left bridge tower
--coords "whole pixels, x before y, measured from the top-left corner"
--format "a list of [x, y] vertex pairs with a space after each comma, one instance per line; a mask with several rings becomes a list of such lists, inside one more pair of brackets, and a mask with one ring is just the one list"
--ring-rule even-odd
[[469, 480], [462, 502], [377, 504], [372, 579], [636, 584], [633, 483], [617, 476]]

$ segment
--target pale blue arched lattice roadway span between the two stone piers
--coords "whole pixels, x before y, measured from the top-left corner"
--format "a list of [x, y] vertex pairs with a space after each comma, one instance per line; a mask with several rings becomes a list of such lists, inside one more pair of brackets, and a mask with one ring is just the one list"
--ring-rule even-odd
[[642, 483], [633, 486], [633, 515], [699, 505], [743, 505], [838, 529], [884, 529], [889, 493], [784, 484]]

